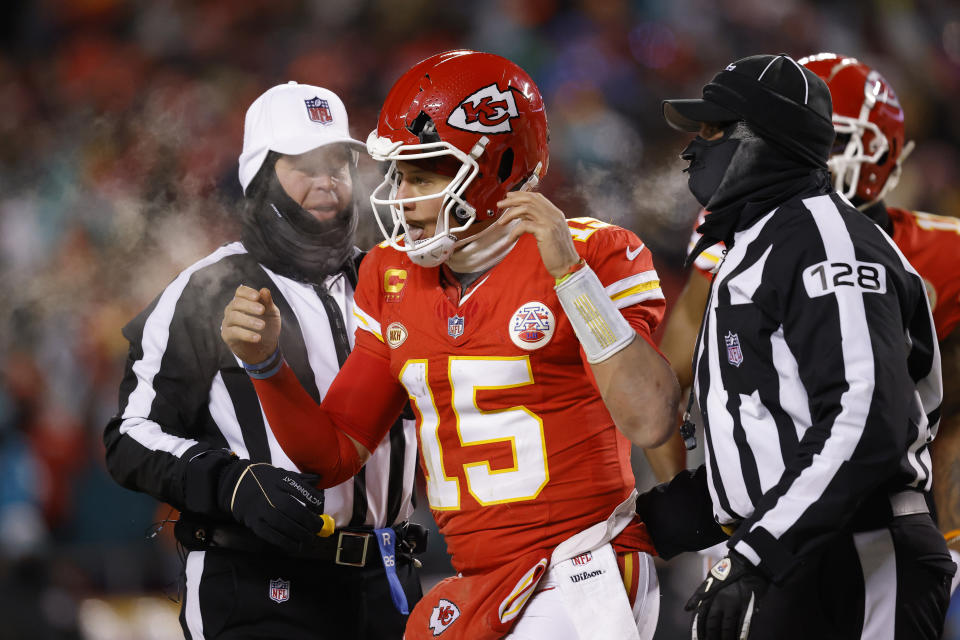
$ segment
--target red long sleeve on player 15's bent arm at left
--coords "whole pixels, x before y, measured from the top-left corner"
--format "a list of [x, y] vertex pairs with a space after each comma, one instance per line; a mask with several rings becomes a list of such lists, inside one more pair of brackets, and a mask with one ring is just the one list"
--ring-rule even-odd
[[318, 474], [319, 487], [353, 477], [363, 466], [353, 440], [373, 453], [407, 401], [387, 360], [363, 348], [350, 353], [321, 405], [286, 363], [253, 385], [284, 453], [302, 471]]

